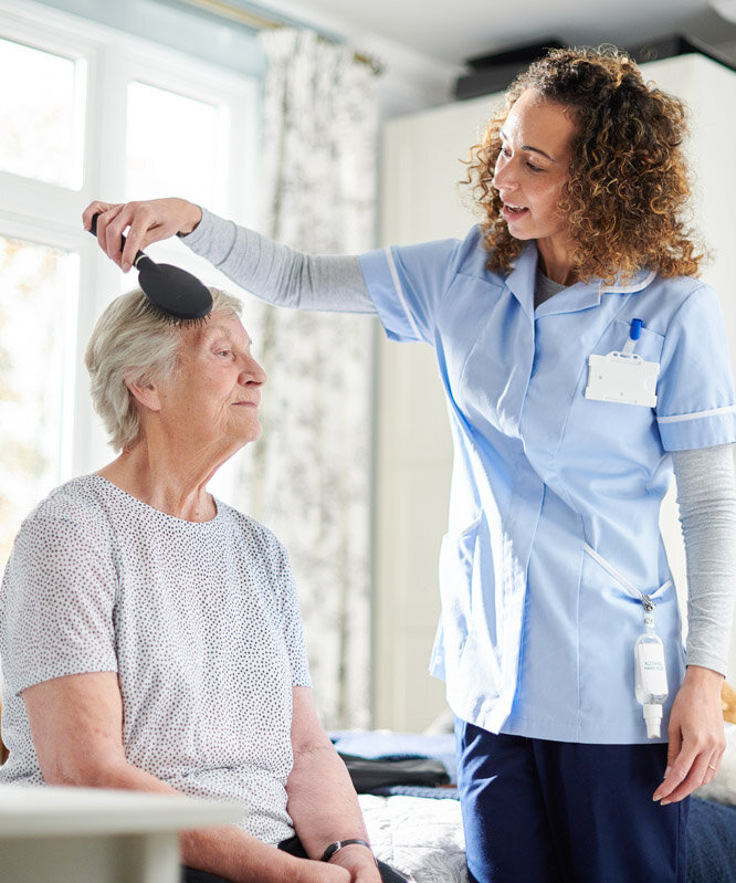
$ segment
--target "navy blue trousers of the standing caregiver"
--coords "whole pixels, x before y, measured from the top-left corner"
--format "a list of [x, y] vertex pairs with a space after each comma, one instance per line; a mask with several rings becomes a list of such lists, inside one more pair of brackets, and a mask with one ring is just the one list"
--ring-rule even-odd
[[494, 735], [458, 721], [471, 883], [685, 883], [687, 800], [661, 807], [666, 745]]

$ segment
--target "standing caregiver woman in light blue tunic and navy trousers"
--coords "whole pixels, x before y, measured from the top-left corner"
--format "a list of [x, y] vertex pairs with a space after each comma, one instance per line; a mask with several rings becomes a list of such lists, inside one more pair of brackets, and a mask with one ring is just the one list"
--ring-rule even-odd
[[[472, 149], [463, 241], [316, 257], [179, 199], [84, 213], [123, 269], [178, 233], [272, 303], [434, 347], [455, 459], [431, 671], [473, 883], [684, 883], [687, 796], [724, 750], [736, 400], [684, 136], [627, 55], [556, 50]], [[658, 523], [673, 471], [686, 651]]]

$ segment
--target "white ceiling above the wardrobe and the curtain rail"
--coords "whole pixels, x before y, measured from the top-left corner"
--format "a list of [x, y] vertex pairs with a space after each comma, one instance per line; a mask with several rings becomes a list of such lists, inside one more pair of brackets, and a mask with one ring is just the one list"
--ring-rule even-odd
[[[375, 35], [453, 65], [551, 36], [578, 45], [629, 46], [674, 32], [717, 41], [724, 23], [707, 0], [262, 0], [261, 7], [338, 30], [358, 49], [361, 34]], [[726, 39], [734, 38], [719, 42]]]

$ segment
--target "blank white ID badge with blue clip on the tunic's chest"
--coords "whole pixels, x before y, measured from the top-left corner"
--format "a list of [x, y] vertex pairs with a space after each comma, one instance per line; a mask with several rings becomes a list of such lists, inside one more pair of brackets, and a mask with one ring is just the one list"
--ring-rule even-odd
[[642, 404], [646, 408], [656, 404], [660, 365], [656, 361], [645, 361], [634, 353], [643, 327], [641, 319], [631, 319], [629, 338], [620, 351], [589, 357], [587, 399]]

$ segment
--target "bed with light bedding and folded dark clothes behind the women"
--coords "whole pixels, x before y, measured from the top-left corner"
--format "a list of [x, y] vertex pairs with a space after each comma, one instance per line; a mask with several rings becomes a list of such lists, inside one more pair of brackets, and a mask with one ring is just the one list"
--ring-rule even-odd
[[[726, 730], [718, 776], [691, 800], [687, 883], [736, 883], [736, 725], [726, 724]], [[413, 883], [467, 883], [452, 735], [339, 733], [333, 740], [351, 775], [353, 758], [382, 761], [388, 770], [386, 785], [366, 782], [360, 765], [354, 775], [359, 792], [374, 786], [359, 799], [377, 856]], [[413, 774], [407, 784], [397, 782], [392, 765], [410, 758], [429, 758], [435, 770], [444, 767], [442, 784], [418, 784]]]

